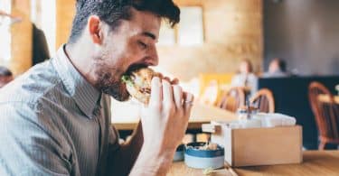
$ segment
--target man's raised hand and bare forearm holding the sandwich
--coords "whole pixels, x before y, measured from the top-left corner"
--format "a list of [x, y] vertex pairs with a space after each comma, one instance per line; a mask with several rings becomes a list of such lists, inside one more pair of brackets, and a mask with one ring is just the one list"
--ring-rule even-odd
[[167, 79], [152, 79], [148, 107], [141, 110], [144, 144], [132, 175], [165, 175], [183, 140], [192, 103], [193, 95], [180, 86], [171, 85]]

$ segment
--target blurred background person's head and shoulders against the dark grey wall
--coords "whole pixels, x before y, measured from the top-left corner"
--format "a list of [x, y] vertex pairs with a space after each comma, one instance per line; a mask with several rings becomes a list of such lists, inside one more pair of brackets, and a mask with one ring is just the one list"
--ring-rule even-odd
[[263, 78], [287, 77], [287, 66], [284, 60], [275, 58], [269, 62], [268, 72], [262, 75]]

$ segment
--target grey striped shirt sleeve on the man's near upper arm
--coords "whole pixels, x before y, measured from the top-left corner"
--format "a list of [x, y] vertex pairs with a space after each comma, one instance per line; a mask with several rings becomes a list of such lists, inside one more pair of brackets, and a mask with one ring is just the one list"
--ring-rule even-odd
[[71, 175], [51, 118], [24, 103], [0, 105], [0, 112], [0, 175]]

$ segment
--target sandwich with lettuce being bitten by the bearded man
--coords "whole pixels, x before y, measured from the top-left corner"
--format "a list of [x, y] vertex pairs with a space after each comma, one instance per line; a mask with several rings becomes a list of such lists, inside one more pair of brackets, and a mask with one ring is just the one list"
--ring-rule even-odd
[[125, 82], [130, 97], [148, 105], [149, 97], [151, 96], [151, 81], [153, 77], [162, 79], [162, 75], [155, 72], [153, 69], [138, 68], [128, 71], [121, 79]]

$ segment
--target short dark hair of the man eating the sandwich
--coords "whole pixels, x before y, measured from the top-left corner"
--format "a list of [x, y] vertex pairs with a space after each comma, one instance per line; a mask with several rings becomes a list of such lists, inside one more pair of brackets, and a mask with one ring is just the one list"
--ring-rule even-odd
[[180, 10], [172, 0], [77, 0], [69, 42], [74, 43], [79, 39], [89, 15], [98, 15], [114, 30], [120, 20], [131, 19], [132, 7], [165, 18], [172, 27], [180, 21]]

